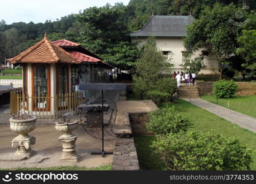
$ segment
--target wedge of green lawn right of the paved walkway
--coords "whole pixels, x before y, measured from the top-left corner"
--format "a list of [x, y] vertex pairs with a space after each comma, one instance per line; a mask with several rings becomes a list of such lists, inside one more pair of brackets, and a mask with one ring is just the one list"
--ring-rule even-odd
[[234, 96], [230, 99], [219, 98], [218, 103], [216, 96], [214, 94], [204, 95], [201, 96], [201, 98], [206, 101], [212, 102], [214, 104], [219, 104], [227, 108], [229, 103], [229, 109], [256, 118], [256, 96]]

